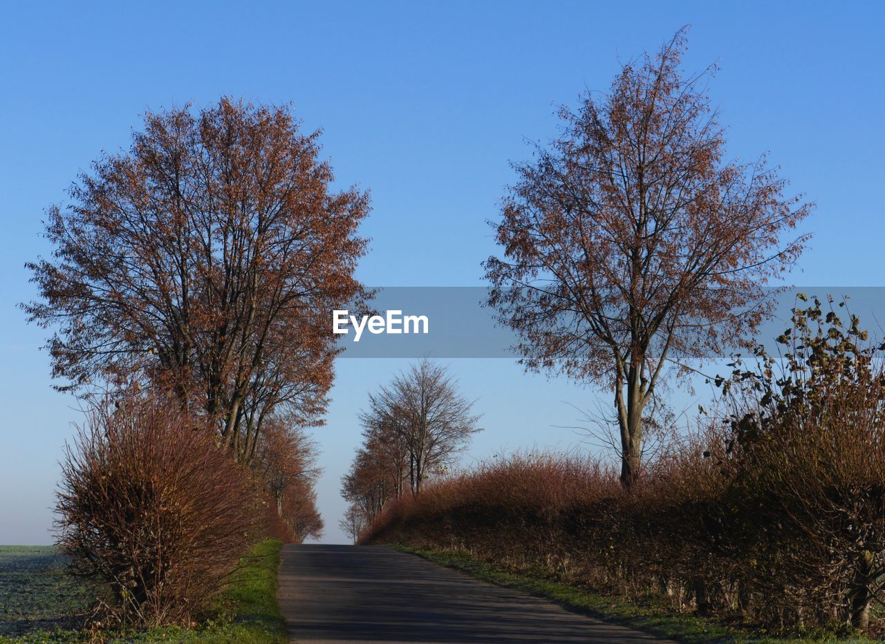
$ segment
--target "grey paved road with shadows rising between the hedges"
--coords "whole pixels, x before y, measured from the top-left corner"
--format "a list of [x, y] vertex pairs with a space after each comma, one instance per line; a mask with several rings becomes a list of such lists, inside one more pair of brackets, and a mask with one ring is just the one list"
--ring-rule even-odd
[[285, 546], [280, 606], [298, 642], [662, 641], [380, 547]]

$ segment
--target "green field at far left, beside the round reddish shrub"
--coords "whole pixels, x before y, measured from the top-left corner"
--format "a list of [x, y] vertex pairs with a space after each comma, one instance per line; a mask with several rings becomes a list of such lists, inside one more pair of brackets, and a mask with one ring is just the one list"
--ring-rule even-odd
[[52, 546], [0, 546], [0, 636], [53, 630], [87, 608]]

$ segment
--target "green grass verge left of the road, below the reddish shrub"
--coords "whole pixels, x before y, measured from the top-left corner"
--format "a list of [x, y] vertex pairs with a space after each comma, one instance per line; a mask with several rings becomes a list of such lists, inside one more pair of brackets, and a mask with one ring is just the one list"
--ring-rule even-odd
[[[242, 567], [230, 579], [230, 586], [219, 595], [210, 619], [196, 628], [165, 627], [142, 632], [103, 632], [108, 642], [215, 642], [217, 644], [276, 644], [288, 642], [286, 621], [277, 604], [277, 569], [282, 541], [266, 540], [241, 559]], [[89, 641], [84, 631], [38, 631], [19, 639], [0, 637], [7, 642]]]

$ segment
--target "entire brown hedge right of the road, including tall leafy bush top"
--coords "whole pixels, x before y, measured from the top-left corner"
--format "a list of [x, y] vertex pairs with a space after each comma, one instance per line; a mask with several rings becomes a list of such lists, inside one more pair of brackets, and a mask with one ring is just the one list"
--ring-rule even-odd
[[885, 591], [885, 344], [830, 304], [793, 310], [780, 360], [736, 361], [724, 413], [629, 491], [589, 460], [514, 456], [390, 504], [363, 540], [775, 628], [868, 626]]

